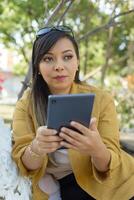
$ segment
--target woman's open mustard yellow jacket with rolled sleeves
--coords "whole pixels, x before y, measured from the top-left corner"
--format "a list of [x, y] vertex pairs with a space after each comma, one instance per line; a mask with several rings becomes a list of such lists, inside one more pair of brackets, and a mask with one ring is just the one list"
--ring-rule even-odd
[[[75, 83], [71, 93], [96, 94], [92, 116], [97, 118], [99, 133], [111, 153], [109, 171], [99, 173], [92, 165], [89, 156], [69, 149], [69, 160], [77, 183], [97, 200], [129, 200], [134, 196], [134, 158], [120, 149], [118, 120], [112, 97], [107, 92], [93, 86]], [[38, 127], [29, 95], [30, 89], [26, 90], [17, 102], [14, 112], [13, 138], [15, 144], [12, 157], [20, 173], [23, 176], [29, 176], [32, 180], [33, 200], [48, 200], [48, 195], [38, 187], [38, 181], [45, 174], [48, 157], [44, 158], [41, 169], [34, 171], [27, 170], [21, 161], [21, 156], [35, 137]]]

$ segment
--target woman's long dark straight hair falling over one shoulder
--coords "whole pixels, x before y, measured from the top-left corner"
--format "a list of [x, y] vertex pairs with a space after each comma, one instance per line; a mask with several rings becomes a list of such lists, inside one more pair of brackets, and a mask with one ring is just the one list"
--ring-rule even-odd
[[[47, 112], [47, 103], [48, 95], [51, 94], [48, 88], [47, 83], [43, 77], [39, 74], [39, 63], [42, 60], [43, 56], [55, 45], [55, 43], [61, 38], [68, 38], [75, 49], [77, 58], [79, 59], [79, 49], [78, 45], [71, 35], [67, 34], [64, 31], [52, 30], [49, 33], [38, 37], [33, 44], [32, 52], [32, 99], [34, 103], [34, 112], [36, 120], [39, 126], [46, 124], [46, 112]], [[75, 80], [76, 83], [79, 83], [79, 69], [76, 72]]]

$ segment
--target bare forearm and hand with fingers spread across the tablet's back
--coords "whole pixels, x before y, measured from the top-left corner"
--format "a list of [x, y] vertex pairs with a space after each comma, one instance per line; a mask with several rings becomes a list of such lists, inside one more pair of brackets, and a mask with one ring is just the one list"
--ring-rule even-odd
[[96, 119], [92, 118], [89, 128], [77, 122], [71, 122], [71, 126], [77, 128], [82, 135], [71, 129], [62, 128], [60, 137], [63, 137], [68, 143], [62, 141], [61, 145], [77, 150], [82, 154], [88, 154], [98, 171], [107, 171], [111, 156], [99, 135]]

